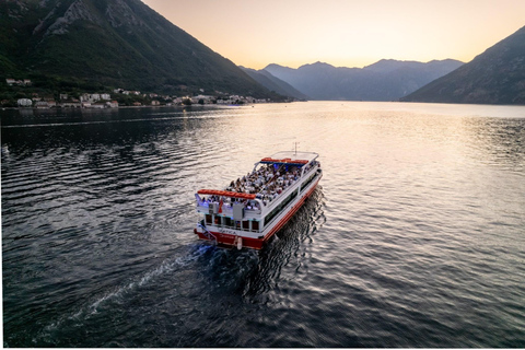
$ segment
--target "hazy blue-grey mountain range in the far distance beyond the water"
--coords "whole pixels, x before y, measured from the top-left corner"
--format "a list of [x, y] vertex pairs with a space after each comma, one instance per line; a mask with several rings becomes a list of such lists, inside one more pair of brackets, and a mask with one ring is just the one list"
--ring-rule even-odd
[[427, 63], [384, 59], [364, 68], [316, 62], [298, 69], [269, 65], [265, 70], [313, 100], [397, 101], [462, 65], [453, 59]]

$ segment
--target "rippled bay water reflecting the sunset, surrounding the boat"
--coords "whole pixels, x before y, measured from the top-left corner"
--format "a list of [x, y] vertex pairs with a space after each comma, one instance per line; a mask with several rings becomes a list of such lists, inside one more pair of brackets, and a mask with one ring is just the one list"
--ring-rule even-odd
[[[525, 347], [525, 107], [1, 114], [4, 347]], [[316, 151], [260, 253], [194, 191]]]

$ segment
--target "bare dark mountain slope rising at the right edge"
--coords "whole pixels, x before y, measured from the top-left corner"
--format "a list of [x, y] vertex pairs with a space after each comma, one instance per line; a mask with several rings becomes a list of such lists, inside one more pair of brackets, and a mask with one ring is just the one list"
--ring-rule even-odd
[[525, 104], [525, 27], [401, 101]]

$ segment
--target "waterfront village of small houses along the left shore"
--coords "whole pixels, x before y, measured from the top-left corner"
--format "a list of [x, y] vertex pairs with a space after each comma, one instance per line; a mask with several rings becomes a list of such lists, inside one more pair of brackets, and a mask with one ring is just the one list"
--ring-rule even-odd
[[[5, 79], [8, 85], [31, 86], [31, 80]], [[203, 93], [203, 90], [200, 90]], [[217, 95], [199, 94], [196, 96], [171, 96], [159, 95], [155, 93], [141, 93], [140, 91], [128, 91], [124, 89], [115, 89], [113, 94], [109, 93], [80, 93], [77, 96], [60, 93], [55, 96], [39, 95], [32, 93], [31, 97], [16, 98], [16, 106], [21, 108], [118, 108], [124, 106], [182, 106], [182, 105], [240, 105], [254, 103], [268, 103], [270, 100], [255, 98], [250, 96], [230, 95], [228, 93], [215, 92]], [[126, 98], [129, 96], [131, 98]], [[135, 97], [135, 98], [133, 98]], [[126, 100], [126, 103], [121, 101]], [[139, 101], [136, 101], [139, 100]], [[119, 102], [120, 101], [120, 102]], [[13, 106], [8, 100], [0, 101], [0, 106]]]

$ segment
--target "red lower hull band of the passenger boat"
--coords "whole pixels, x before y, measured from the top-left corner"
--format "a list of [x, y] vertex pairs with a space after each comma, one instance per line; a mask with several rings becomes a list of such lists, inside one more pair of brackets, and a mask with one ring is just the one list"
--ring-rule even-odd
[[[320, 177], [317, 179], [317, 182], [312, 187], [312, 189], [310, 189], [308, 192], [303, 198], [301, 198], [301, 200], [298, 203], [293, 206], [290, 212], [285, 214], [284, 218], [282, 218], [264, 238], [258, 240], [258, 238], [250, 238], [250, 237], [242, 237], [243, 247], [257, 249], [257, 250], [261, 249], [262, 246], [271, 238], [271, 236], [277, 232], [279, 232], [279, 230], [281, 230], [282, 226], [284, 226], [284, 224], [288, 222], [288, 220], [290, 220], [290, 218], [292, 218], [292, 215], [303, 206], [304, 201], [314, 192], [319, 180], [320, 180]], [[194, 232], [199, 236], [199, 240], [213, 242], [213, 240], [210, 240], [203, 233], [198, 232], [197, 229], [194, 229]], [[237, 242], [235, 241], [237, 236], [233, 234], [220, 233], [220, 232], [213, 232], [213, 231], [210, 231], [210, 232], [217, 237], [217, 243], [219, 245], [235, 246], [237, 244]]]

